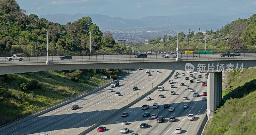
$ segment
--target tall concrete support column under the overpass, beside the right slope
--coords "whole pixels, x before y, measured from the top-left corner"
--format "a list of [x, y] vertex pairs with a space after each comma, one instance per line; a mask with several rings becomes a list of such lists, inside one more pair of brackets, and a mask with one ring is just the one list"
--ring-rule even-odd
[[220, 105], [222, 99], [222, 72], [208, 73], [207, 78], [207, 110], [210, 109], [210, 116]]

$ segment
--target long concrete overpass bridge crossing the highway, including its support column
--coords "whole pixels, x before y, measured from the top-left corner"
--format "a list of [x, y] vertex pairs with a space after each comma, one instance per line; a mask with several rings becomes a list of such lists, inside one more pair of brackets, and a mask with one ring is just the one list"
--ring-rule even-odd
[[[45, 57], [25, 58], [23, 61], [0, 61], [0, 75], [70, 70], [70, 69], [102, 69], [102, 68], [152, 68], [172, 69], [186, 72], [197, 71], [208, 74], [207, 86], [207, 109], [211, 110], [210, 115], [219, 106], [222, 96], [222, 72], [228, 70], [243, 70], [243, 68], [255, 67], [256, 57], [244, 55], [240, 57], [182, 57], [163, 58], [157, 55], [145, 59], [136, 59], [131, 55], [109, 55], [109, 56], [76, 56], [73, 60], [60, 60], [52, 57], [52, 60], [45, 61]], [[188, 55], [189, 56], [189, 55]], [[1, 58], [0, 58], [1, 59]]]

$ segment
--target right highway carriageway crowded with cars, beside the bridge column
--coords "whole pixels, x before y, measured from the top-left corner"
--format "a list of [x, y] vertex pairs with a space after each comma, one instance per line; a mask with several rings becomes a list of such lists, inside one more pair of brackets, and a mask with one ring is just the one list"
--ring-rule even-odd
[[[176, 70], [177, 71], [177, 70]], [[175, 74], [176, 74], [175, 71]], [[168, 82], [165, 82], [163, 84], [164, 91], [154, 91], [149, 95], [151, 97], [151, 100], [146, 101], [145, 97], [144, 99], [140, 100], [139, 102], [135, 103], [131, 107], [125, 109], [123, 112], [128, 112], [129, 116], [127, 117], [121, 117], [121, 114], [115, 115], [112, 118], [110, 118], [108, 121], [105, 121], [101, 124], [101, 126], [104, 126], [107, 128], [107, 130], [103, 132], [97, 132], [97, 128], [90, 131], [89, 135], [110, 135], [110, 134], [120, 134], [120, 130], [123, 127], [126, 127], [129, 129], [128, 134], [131, 133], [137, 133], [139, 135], [146, 135], [146, 134], [155, 134], [155, 135], [171, 135], [175, 134], [174, 131], [177, 127], [181, 127], [183, 129], [181, 134], [187, 134], [191, 135], [194, 134], [196, 131], [196, 127], [200, 126], [201, 123], [199, 122], [203, 114], [206, 110], [206, 101], [202, 101], [202, 95], [204, 91], [207, 91], [207, 87], [203, 87], [202, 83], [189, 83], [189, 80], [185, 80], [185, 77], [189, 77], [190, 73], [186, 73], [184, 71], [180, 71], [181, 73], [185, 73], [184, 76], [178, 75], [178, 79], [174, 79], [173, 75], [170, 79], [173, 80], [175, 85], [175, 88], [171, 88], [172, 84], [168, 84]], [[174, 75], [175, 75], [174, 74]], [[196, 75], [196, 78], [198, 78], [199, 73], [194, 74]], [[202, 76], [204, 74], [202, 73]], [[190, 79], [192, 77], [189, 77]], [[201, 81], [206, 81], [207, 78], [199, 78]], [[188, 90], [184, 89], [184, 86], [180, 86], [180, 83], [185, 83], [185, 86], [188, 85], [190, 88], [194, 89], [194, 92], [199, 93], [199, 97], [192, 96], [193, 92], [189, 92]], [[176, 95], [170, 95], [170, 91], [176, 91]], [[164, 98], [159, 99], [158, 95], [164, 94]], [[183, 97], [188, 97], [188, 100], [182, 100]], [[206, 96], [204, 96], [206, 97]], [[159, 108], [153, 109], [152, 105], [153, 103], [158, 103]], [[174, 107], [175, 110], [173, 112], [168, 112], [168, 108], [164, 108], [164, 104], [170, 104], [170, 107]], [[183, 108], [183, 105], [187, 103], [189, 104], [189, 108]], [[141, 110], [141, 106], [143, 104], [148, 104], [149, 109], [148, 110]], [[150, 115], [153, 113], [158, 114], [158, 116], [164, 116], [165, 121], [163, 123], [156, 123], [156, 118], [151, 117], [143, 117], [142, 115], [145, 112], [149, 112]], [[187, 116], [188, 114], [194, 114], [195, 119], [193, 121], [188, 121]], [[169, 117], [175, 116], [176, 121], [175, 122], [169, 122]], [[128, 121], [129, 123], [127, 125], [121, 125], [122, 121]], [[141, 123], [147, 123], [147, 128], [140, 128]]]

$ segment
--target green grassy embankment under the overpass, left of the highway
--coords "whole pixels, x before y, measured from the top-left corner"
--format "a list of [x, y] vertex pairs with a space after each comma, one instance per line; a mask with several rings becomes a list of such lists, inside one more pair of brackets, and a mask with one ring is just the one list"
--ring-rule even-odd
[[[31, 114], [33, 110], [60, 101], [85, 90], [91, 90], [105, 80], [100, 74], [87, 73], [79, 82], [73, 82], [69, 74], [61, 71], [11, 74], [0, 80], [0, 125]], [[41, 88], [20, 91], [20, 83], [32, 79], [39, 81]]]

